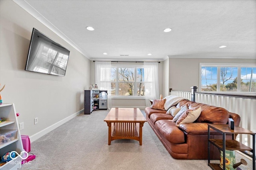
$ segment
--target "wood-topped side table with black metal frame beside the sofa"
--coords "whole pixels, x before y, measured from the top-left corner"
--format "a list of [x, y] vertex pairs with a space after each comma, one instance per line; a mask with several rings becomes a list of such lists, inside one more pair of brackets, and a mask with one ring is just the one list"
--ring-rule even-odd
[[[222, 134], [222, 139], [210, 139], [210, 128]], [[232, 140], [226, 140], [226, 135], [232, 134]], [[250, 134], [252, 135], [252, 148], [235, 140], [235, 134]], [[208, 166], [213, 170], [222, 170], [219, 164], [210, 163], [210, 144], [214, 145], [223, 152], [223, 170], [226, 169], [226, 150], [248, 150], [252, 152], [252, 169], [255, 170], [255, 135], [256, 133], [235, 126], [234, 130], [230, 130], [228, 125], [208, 124]], [[237, 168], [240, 170], [240, 168]]]

